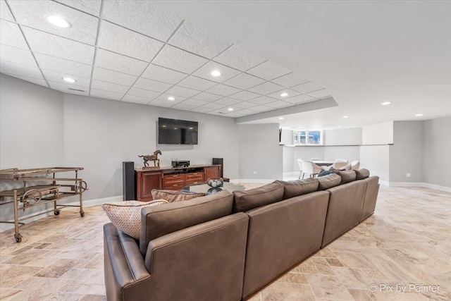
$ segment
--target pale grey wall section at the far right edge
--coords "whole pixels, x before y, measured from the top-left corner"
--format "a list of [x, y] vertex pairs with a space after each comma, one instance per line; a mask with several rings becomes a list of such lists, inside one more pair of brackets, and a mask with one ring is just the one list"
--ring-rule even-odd
[[451, 116], [423, 125], [424, 182], [451, 188]]

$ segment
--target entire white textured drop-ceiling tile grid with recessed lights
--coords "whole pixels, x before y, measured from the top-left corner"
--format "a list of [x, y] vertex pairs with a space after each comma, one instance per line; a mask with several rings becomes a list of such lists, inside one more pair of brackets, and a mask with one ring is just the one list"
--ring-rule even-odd
[[[0, 0], [0, 8], [1, 72], [54, 90], [230, 117], [330, 96], [148, 1]], [[51, 25], [51, 15], [70, 27]]]

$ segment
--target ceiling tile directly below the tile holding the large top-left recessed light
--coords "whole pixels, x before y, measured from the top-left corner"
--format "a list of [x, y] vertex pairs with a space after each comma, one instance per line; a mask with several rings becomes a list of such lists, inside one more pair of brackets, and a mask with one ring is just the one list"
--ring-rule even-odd
[[94, 47], [92, 46], [29, 27], [23, 27], [23, 32], [32, 51], [69, 59], [70, 61], [92, 64], [94, 59]]

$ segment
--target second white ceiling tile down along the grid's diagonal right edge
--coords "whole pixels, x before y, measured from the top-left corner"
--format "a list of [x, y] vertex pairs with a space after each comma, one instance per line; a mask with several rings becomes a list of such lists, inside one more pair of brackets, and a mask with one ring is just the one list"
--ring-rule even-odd
[[175, 32], [169, 44], [208, 59], [213, 59], [231, 45], [188, 21]]

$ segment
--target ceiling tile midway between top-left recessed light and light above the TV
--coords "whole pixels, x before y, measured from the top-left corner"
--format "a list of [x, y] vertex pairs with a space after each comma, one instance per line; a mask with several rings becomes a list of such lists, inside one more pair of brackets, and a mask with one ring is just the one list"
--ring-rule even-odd
[[144, 61], [132, 59], [122, 54], [115, 54], [104, 49], [97, 49], [94, 65], [130, 75], [140, 75], [147, 67], [147, 63]]

